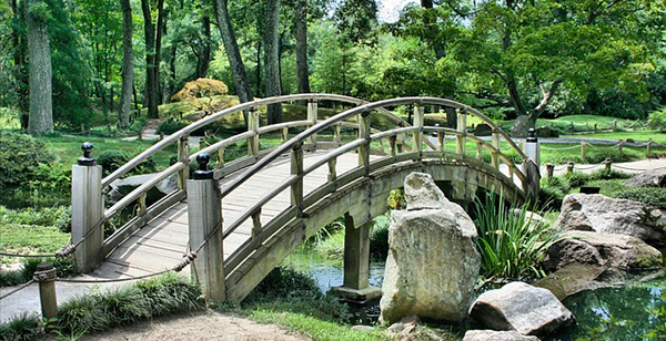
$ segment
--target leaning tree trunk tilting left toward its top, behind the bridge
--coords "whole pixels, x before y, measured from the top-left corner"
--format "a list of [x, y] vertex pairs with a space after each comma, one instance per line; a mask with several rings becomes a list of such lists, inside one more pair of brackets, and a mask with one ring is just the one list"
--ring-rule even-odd
[[[226, 8], [226, 0], [215, 0], [215, 17], [218, 19], [218, 27], [220, 28], [220, 35], [222, 35], [222, 42], [224, 44], [224, 51], [226, 58], [229, 58], [229, 65], [231, 68], [231, 74], [233, 83], [239, 95], [241, 103], [253, 101], [252, 90], [248, 82], [248, 74], [245, 73], [245, 65], [243, 65], [243, 59], [239, 50], [239, 44], [229, 19], [229, 9]], [[248, 122], [245, 117], [245, 123]]]

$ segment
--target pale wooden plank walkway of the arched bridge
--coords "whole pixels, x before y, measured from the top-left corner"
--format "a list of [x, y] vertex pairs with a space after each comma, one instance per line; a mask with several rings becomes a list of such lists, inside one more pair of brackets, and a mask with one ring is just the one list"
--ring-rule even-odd
[[[325, 151], [305, 153], [304, 168], [321, 159], [325, 153]], [[291, 165], [289, 159], [289, 156], [278, 158], [222, 200], [222, 216], [225, 227], [235, 221], [245, 207], [254, 204], [255, 200], [282, 184], [290, 176]], [[343, 174], [356, 167], [357, 162], [357, 154], [340, 156], [336, 166], [337, 174]], [[221, 185], [224, 186], [226, 182], [238, 175], [222, 179]], [[325, 184], [327, 176], [329, 167], [326, 165], [305, 176], [303, 179], [303, 194], [307, 195], [316, 187]], [[291, 193], [287, 188], [269, 202], [261, 211], [262, 224], [266, 224], [289, 207]], [[224, 258], [229, 257], [251, 235], [252, 219], [246, 219], [224, 240]], [[128, 278], [169, 269], [180, 261], [182, 255], [188, 250], [188, 205], [186, 203], [179, 203], [128, 238], [111, 252], [107, 261], [92, 275], [98, 278]], [[191, 247], [195, 248], [196, 246]], [[184, 271], [188, 271], [188, 269]]]

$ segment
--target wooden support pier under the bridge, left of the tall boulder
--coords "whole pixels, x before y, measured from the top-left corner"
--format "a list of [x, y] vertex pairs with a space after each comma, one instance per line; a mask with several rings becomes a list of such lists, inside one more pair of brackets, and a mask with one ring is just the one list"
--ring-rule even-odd
[[371, 287], [370, 279], [370, 230], [373, 221], [354, 225], [354, 217], [344, 215], [344, 278], [342, 287], [333, 288], [343, 299], [364, 302], [380, 298], [382, 289]]

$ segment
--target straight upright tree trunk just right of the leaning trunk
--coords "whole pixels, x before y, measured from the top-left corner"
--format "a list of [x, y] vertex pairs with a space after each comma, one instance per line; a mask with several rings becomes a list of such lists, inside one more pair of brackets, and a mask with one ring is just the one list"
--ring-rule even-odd
[[[280, 80], [280, 0], [268, 0], [266, 27], [264, 31], [264, 72], [266, 96], [281, 95]], [[282, 122], [282, 104], [268, 106], [268, 123]]]

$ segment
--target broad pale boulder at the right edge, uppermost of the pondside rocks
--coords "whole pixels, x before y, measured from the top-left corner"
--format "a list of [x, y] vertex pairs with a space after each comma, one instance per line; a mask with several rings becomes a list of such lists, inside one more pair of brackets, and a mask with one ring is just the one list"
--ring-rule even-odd
[[[640, 219], [645, 204], [616, 199], [601, 194], [569, 194], [562, 202], [556, 226], [568, 230], [586, 230], [620, 234], [645, 241], [659, 241], [664, 231]], [[666, 215], [659, 209], [652, 214], [659, 217], [657, 224], [666, 224]]]

